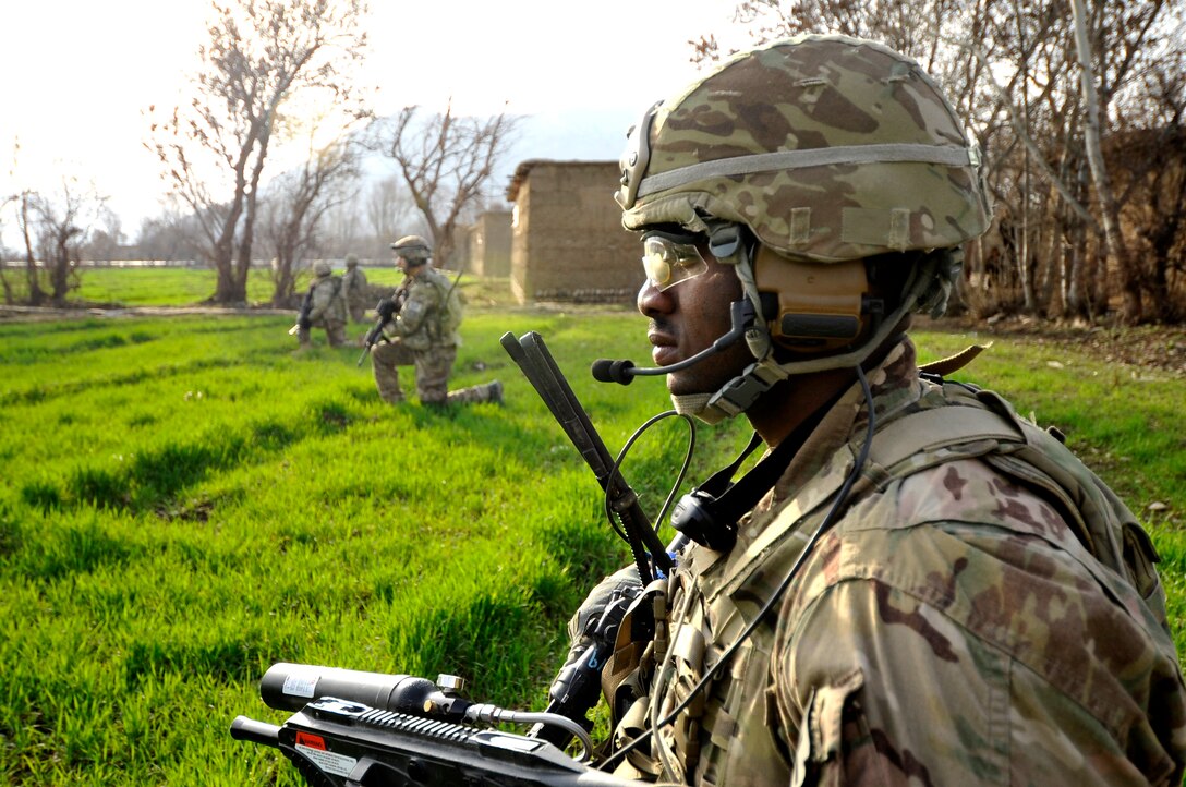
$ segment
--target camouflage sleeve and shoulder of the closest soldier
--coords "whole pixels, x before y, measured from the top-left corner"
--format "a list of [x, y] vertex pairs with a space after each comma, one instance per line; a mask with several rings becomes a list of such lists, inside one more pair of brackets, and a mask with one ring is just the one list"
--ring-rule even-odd
[[857, 785], [911, 768], [931, 783], [1180, 779], [1177, 660], [1048, 543], [937, 524], [830, 535], [804, 568], [810, 601], [785, 600], [773, 677], [804, 767], [874, 774], [839, 774]]

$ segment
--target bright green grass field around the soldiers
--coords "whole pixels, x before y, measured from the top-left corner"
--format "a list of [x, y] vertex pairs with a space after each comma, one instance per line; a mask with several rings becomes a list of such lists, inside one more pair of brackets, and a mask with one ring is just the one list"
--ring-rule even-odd
[[[323, 344], [295, 352], [291, 324], [0, 324], [0, 781], [301, 783], [228, 734], [240, 714], [285, 717], [255, 687], [275, 661], [449, 672], [476, 698], [544, 704], [565, 622], [629, 552], [498, 338], [538, 331], [617, 450], [667, 409], [662, 382], [586, 370], [644, 359], [642, 320], [473, 309], [452, 384], [497, 377], [506, 402], [442, 414], [384, 405], [357, 348], [314, 332]], [[930, 359], [974, 340], [919, 345]], [[1063, 427], [1142, 516], [1182, 651], [1186, 383], [1051, 352], [997, 340], [957, 377]], [[701, 428], [690, 478], [746, 436]], [[652, 516], [686, 444], [667, 420], [625, 465]]]

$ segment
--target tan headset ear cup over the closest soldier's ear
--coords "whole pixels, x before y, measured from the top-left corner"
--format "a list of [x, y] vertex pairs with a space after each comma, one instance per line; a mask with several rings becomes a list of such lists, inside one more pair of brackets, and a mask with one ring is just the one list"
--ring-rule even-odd
[[868, 327], [868, 274], [862, 260], [799, 262], [759, 245], [754, 283], [774, 344], [818, 354], [847, 347]]

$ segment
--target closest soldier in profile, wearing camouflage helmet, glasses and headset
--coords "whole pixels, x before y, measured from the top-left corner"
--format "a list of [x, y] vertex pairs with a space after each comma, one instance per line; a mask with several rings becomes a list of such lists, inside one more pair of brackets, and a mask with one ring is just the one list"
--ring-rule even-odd
[[[616, 199], [652, 358], [678, 411], [744, 415], [769, 450], [676, 506], [677, 568], [632, 613], [657, 633], [619, 634], [602, 672], [618, 775], [1181, 783], [1148, 536], [1056, 436], [944, 383], [964, 358], [916, 364], [911, 314], [943, 312], [988, 224], [961, 129], [912, 60], [805, 37], [632, 130]], [[574, 654], [631, 576], [591, 594]]]

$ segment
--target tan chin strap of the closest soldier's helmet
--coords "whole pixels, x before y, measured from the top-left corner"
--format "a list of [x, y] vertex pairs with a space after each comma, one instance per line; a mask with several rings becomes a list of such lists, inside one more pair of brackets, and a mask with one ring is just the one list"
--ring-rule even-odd
[[791, 375], [810, 375], [833, 369], [860, 366], [874, 350], [890, 338], [903, 318], [913, 311], [924, 290], [931, 287], [936, 268], [940, 264], [937, 255], [927, 255], [923, 258], [922, 263], [911, 273], [901, 303], [886, 315], [876, 332], [859, 347], [839, 356], [823, 356], [779, 364], [773, 358], [773, 343], [766, 321], [760, 316], [761, 305], [758, 287], [753, 280], [751, 260], [752, 256], [742, 243], [729, 258], [720, 260], [720, 262], [735, 265], [734, 270], [741, 281], [745, 296], [754, 303], [755, 313], [759, 315], [753, 327], [746, 331], [746, 344], [755, 360], [713, 394], [672, 394], [671, 404], [681, 415], [693, 415], [709, 424], [720, 423], [725, 418], [748, 410], [763, 394]]

